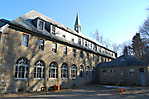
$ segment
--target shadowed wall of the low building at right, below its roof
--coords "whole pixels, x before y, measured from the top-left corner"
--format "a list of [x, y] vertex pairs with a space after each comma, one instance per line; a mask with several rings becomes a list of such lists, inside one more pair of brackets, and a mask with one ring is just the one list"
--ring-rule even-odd
[[144, 69], [145, 85], [149, 85], [147, 66], [97, 67], [97, 83], [114, 85], [142, 85], [140, 69]]

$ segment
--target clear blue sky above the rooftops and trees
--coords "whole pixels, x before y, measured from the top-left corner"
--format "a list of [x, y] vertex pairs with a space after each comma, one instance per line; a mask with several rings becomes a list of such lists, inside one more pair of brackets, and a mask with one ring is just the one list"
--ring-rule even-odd
[[79, 12], [82, 32], [98, 30], [106, 39], [128, 41], [149, 16], [149, 0], [1, 0], [0, 18], [13, 20], [30, 10], [73, 28]]

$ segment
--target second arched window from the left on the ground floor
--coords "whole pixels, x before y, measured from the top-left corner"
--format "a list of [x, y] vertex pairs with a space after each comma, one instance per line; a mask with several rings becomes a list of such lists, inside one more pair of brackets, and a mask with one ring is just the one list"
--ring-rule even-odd
[[39, 60], [35, 63], [34, 78], [44, 78], [44, 62]]

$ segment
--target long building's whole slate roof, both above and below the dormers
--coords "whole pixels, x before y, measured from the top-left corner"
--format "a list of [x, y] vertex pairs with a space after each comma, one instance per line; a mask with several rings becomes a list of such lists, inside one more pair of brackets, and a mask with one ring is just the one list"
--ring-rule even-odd
[[[67, 32], [70, 32], [71, 34], [74, 34], [74, 35], [76, 35], [76, 36], [79, 36], [79, 37], [81, 37], [81, 38], [83, 38], [83, 39], [86, 39], [86, 40], [88, 40], [88, 41], [90, 41], [90, 42], [92, 42], [92, 43], [94, 43], [94, 44], [97, 44], [97, 45], [100, 46], [101, 48], [104, 48], [104, 49], [109, 50], [109, 51], [111, 51], [111, 52], [113, 52], [113, 53], [116, 53], [116, 52], [114, 52], [114, 51], [112, 51], [112, 50], [110, 50], [110, 49], [104, 47], [103, 45], [101, 45], [101, 44], [98, 43], [97, 41], [95, 41], [95, 40], [93, 40], [93, 39], [87, 37], [87, 36], [84, 35], [83, 33], [77, 33], [75, 30], [70, 29], [70, 28], [64, 26], [63, 24], [60, 24], [60, 23], [54, 21], [53, 19], [48, 18], [47, 16], [44, 16], [44, 15], [42, 15], [41, 13], [39, 13], [39, 12], [37, 12], [37, 11], [34, 11], [34, 10], [32, 10], [32, 11], [30, 11], [30, 12], [24, 14], [23, 16], [18, 17], [18, 18], [15, 19], [15, 20], [8, 21], [8, 22], [9, 22], [10, 26], [12, 25], [12, 26], [14, 26], [14, 27], [21, 27], [21, 28], [23, 28], [23, 29], [27, 29], [27, 30], [29, 30], [29, 31], [33, 31], [33, 33], [42, 35], [42, 36], [44, 36], [44, 37], [46, 37], [46, 38], [58, 40], [58, 41], [60, 41], [60, 42], [64, 42], [64, 43], [67, 43], [67, 44], [68, 44], [68, 43], [71, 44], [71, 42], [66, 41], [66, 40], [62, 40], [62, 38], [60, 38], [60, 37], [58, 37], [58, 36], [53, 36], [53, 35], [51, 35], [50, 33], [48, 33], [48, 31], [39, 31], [39, 30], [33, 25], [33, 23], [32, 23], [32, 21], [35, 20], [36, 18], [40, 18], [40, 19], [44, 20], [45, 22], [49, 22], [49, 23], [51, 23], [51, 24], [54, 24], [55, 26], [57, 26], [57, 27], [59, 27], [59, 28], [62, 28], [63, 30], [66, 30]], [[5, 20], [5, 21], [7, 21], [7, 20]], [[1, 22], [0, 22], [0, 23], [1, 23]], [[41, 33], [41, 32], [42, 32], [42, 33]], [[46, 32], [47, 32], [47, 33], [46, 33]], [[76, 44], [71, 44], [71, 45], [77, 46], [77, 47], [79, 46], [79, 45], [76, 45]], [[79, 48], [83, 48], [83, 49], [86, 49], [86, 50], [88, 50], [88, 51], [98, 53], [98, 52], [93, 51], [93, 50], [91, 50], [91, 49], [89, 49], [89, 48], [86, 48], [86, 47], [80, 47], [80, 46], [79, 46]], [[107, 55], [107, 54], [105, 54], [105, 53], [99, 53], [99, 54], [100, 54], [100, 55], [103, 55], [103, 56], [106, 56], [106, 57], [113, 58], [112, 56]]]

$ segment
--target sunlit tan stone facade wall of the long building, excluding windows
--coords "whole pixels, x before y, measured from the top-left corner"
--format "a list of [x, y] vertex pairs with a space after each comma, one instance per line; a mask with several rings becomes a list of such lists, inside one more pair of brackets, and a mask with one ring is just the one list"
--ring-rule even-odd
[[[1, 84], [0, 86], [4, 90], [8, 91], [40, 91], [42, 87], [50, 87], [57, 84], [60, 84], [63, 88], [68, 88], [72, 86], [79, 86], [81, 84], [89, 83], [92, 81], [92, 70], [95, 67], [95, 64], [101, 62], [101, 58], [98, 58], [99, 56], [93, 55], [93, 53], [85, 52], [84, 58], [80, 57], [80, 49], [77, 50], [77, 56], [73, 56], [73, 48], [67, 46], [67, 55], [64, 55], [63, 51], [66, 45], [57, 43], [57, 52], [52, 51], [53, 44], [56, 42], [52, 42], [49, 40], [45, 40], [45, 46], [44, 50], [39, 50], [37, 46], [37, 40], [43, 39], [42, 37], [35, 36], [33, 34], [30, 34], [29, 39], [29, 46], [25, 47], [21, 45], [21, 38], [24, 32], [14, 30], [7, 28], [6, 33], [3, 36], [3, 42], [1, 50], [1, 54], [3, 54], [2, 58], [2, 66], [0, 68], [3, 68], [4, 70], [2, 73], [7, 72], [8, 78], [7, 78], [7, 85], [5, 86]], [[16, 61], [20, 57], [25, 57], [29, 60], [29, 77], [26, 80], [16, 79], [15, 78], [15, 64]], [[96, 58], [95, 58], [96, 57]], [[106, 58], [105, 58], [106, 59]], [[45, 78], [44, 79], [35, 79], [33, 77], [33, 70], [34, 70], [34, 64], [38, 60], [43, 60], [45, 63]], [[109, 59], [110, 60], [110, 59]], [[49, 78], [48, 70], [49, 65], [52, 62], [56, 62], [58, 64], [58, 78], [57, 79], [51, 79]], [[68, 64], [68, 71], [69, 71], [69, 77], [68, 79], [61, 79], [61, 65], [63, 63]], [[71, 70], [70, 67], [75, 64], [77, 66], [77, 78], [75, 80], [72, 80], [70, 74]], [[79, 77], [80, 74], [80, 65], [83, 66], [84, 69], [84, 76]], [[90, 72], [86, 74], [86, 67], [90, 67]], [[5, 72], [4, 72], [5, 71]], [[3, 81], [3, 80], [2, 80]], [[5, 82], [5, 81], [4, 81]], [[3, 82], [2, 82], [3, 83]], [[6, 83], [6, 82], [5, 82]]]

